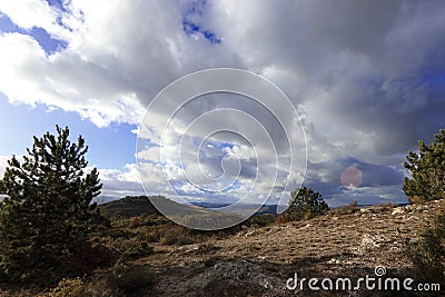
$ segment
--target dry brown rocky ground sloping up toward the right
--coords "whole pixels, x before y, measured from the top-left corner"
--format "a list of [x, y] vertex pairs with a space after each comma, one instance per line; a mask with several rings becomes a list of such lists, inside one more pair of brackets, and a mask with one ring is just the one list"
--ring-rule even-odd
[[[375, 206], [332, 211], [316, 219], [246, 229], [234, 237], [198, 245], [159, 245], [138, 260], [156, 271], [147, 296], [406, 296], [396, 291], [286, 288], [300, 278], [409, 275], [405, 245], [418, 240], [442, 202], [405, 207]], [[384, 268], [383, 268], [384, 267]], [[328, 284], [328, 283], [327, 283]], [[353, 283], [354, 284], [354, 283]], [[318, 287], [320, 284], [318, 283]], [[399, 295], [400, 294], [400, 295]], [[416, 293], [418, 295], [418, 293]], [[435, 291], [431, 296], [441, 296]]]

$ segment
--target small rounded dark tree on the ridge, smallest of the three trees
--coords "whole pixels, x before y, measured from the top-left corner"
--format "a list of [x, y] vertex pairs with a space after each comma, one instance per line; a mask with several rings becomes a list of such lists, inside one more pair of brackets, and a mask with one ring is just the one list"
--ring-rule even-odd
[[294, 220], [305, 220], [324, 215], [329, 210], [319, 192], [303, 187], [290, 194], [288, 215]]

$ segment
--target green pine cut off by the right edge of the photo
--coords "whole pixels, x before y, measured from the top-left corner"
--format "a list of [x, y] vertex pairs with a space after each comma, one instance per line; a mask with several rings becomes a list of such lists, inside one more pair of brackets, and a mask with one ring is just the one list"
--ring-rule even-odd
[[403, 190], [409, 199], [445, 198], [445, 129], [434, 136], [429, 146], [419, 140], [418, 151], [409, 151], [406, 157], [404, 166], [412, 172], [412, 178], [405, 178]]

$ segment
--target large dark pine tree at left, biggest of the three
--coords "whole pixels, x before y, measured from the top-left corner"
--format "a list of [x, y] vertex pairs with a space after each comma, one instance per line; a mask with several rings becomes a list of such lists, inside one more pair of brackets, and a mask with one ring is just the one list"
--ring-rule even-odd
[[85, 174], [88, 147], [68, 128], [33, 138], [28, 156], [8, 161], [0, 192], [0, 275], [9, 280], [69, 270], [76, 245], [105, 222], [91, 204], [100, 194], [97, 169]]

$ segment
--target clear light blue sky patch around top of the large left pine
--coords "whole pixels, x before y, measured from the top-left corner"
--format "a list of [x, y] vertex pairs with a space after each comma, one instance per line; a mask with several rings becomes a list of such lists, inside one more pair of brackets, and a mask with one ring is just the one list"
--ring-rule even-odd
[[[34, 108], [23, 105], [11, 105], [0, 92], [0, 156], [26, 154], [26, 148], [32, 143], [32, 136], [41, 137], [49, 131], [55, 133], [56, 123], [68, 126], [70, 136], [76, 140], [82, 135], [89, 146], [88, 159], [90, 165], [99, 168], [123, 168], [126, 164], [136, 161], [136, 135], [131, 132], [136, 125], [111, 123], [107, 128], [98, 128], [88, 120], [80, 120], [77, 112], [56, 109], [48, 112], [48, 108], [37, 105]], [[11, 129], [13, 127], [13, 129]]]

